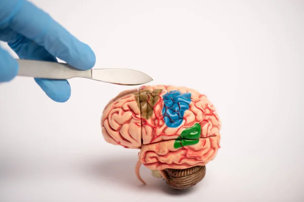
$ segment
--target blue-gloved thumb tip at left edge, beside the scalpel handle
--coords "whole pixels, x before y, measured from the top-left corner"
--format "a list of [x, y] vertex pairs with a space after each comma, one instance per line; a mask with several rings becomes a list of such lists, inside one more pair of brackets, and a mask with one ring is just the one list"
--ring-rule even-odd
[[17, 60], [0, 47], [0, 82], [11, 81], [17, 76], [18, 69]]

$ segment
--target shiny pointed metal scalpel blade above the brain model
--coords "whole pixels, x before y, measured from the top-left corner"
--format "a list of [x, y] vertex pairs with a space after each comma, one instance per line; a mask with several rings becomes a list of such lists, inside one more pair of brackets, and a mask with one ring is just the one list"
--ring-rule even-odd
[[92, 79], [118, 85], [140, 85], [153, 81], [145, 73], [131, 69], [92, 69]]

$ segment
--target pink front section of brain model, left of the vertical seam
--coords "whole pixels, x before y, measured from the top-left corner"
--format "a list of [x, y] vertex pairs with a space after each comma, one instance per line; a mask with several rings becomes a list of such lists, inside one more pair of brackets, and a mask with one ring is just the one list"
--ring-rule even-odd
[[126, 148], [141, 146], [141, 117], [138, 90], [126, 90], [105, 107], [101, 127], [106, 142]]

